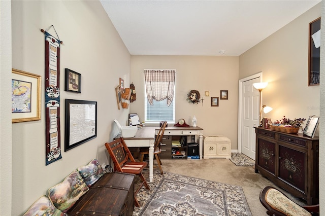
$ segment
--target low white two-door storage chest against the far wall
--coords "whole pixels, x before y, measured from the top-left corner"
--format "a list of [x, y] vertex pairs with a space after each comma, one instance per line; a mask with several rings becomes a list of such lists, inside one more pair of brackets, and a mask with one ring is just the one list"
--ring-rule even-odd
[[231, 140], [222, 135], [206, 136], [204, 139], [203, 158], [228, 158], [231, 155]]

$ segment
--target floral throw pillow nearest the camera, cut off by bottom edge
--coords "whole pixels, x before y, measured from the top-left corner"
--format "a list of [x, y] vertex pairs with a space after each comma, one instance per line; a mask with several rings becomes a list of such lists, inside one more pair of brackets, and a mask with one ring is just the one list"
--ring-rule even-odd
[[63, 212], [55, 208], [47, 196], [42, 196], [23, 214], [23, 216], [36, 215], [63, 216]]

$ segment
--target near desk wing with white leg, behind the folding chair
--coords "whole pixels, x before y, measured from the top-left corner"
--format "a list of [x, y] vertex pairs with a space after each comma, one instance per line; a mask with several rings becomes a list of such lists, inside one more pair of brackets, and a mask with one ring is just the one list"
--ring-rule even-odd
[[136, 136], [123, 138], [127, 147], [149, 147], [149, 180], [153, 180], [153, 150], [155, 140], [155, 127], [142, 127]]

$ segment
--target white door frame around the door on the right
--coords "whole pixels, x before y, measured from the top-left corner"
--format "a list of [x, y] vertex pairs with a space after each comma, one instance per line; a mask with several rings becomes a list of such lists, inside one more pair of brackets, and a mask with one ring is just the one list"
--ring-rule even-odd
[[[252, 80], [252, 79], [256, 79], [259, 78], [259, 82], [262, 82], [262, 71], [251, 75], [249, 77], [240, 79], [238, 81], [238, 146], [237, 146], [237, 152], [238, 153], [242, 153], [242, 88], [243, 88], [243, 82], [246, 82], [248, 80]], [[258, 103], [259, 104], [259, 103]], [[260, 109], [260, 107], [258, 107], [258, 110]]]

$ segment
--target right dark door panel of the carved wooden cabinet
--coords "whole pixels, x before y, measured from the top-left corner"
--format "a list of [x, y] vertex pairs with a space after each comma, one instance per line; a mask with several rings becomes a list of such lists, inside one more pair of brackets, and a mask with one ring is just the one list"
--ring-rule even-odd
[[305, 191], [304, 152], [279, 145], [279, 177]]

